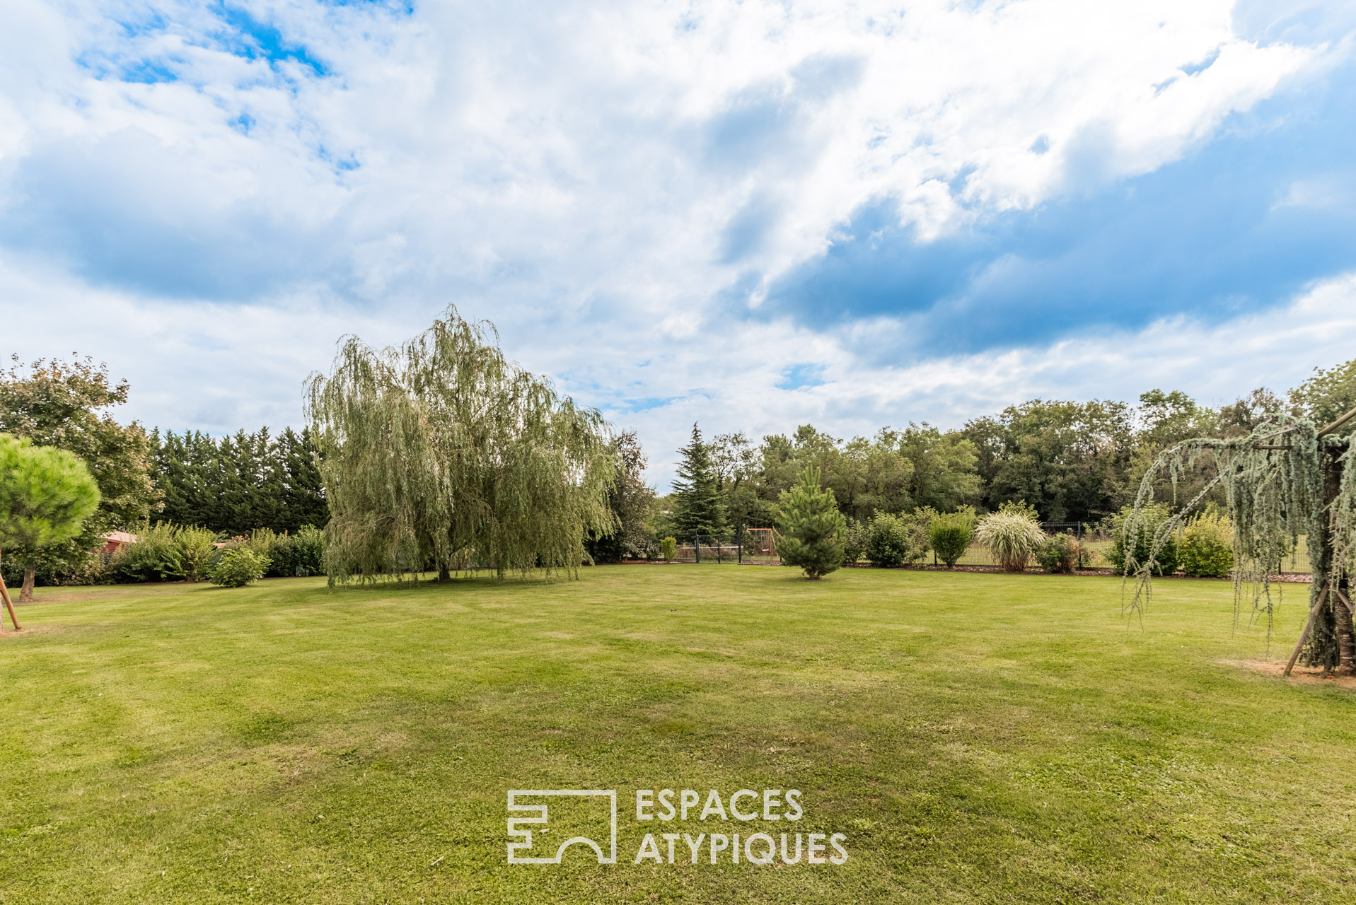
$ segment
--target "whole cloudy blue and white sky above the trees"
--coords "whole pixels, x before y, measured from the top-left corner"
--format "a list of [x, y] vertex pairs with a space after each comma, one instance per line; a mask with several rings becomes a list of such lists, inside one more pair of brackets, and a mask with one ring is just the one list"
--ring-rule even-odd
[[1356, 3], [12, 3], [0, 354], [304, 420], [447, 305], [694, 421], [1220, 405], [1356, 358]]

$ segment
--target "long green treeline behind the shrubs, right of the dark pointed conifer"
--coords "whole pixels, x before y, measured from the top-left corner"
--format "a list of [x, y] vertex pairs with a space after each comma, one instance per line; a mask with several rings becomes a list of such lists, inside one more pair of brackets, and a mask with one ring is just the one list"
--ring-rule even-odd
[[[1031, 400], [956, 429], [910, 423], [871, 438], [839, 439], [805, 424], [754, 444], [744, 434], [705, 440], [693, 425], [673, 493], [654, 500], [648, 535], [658, 545], [666, 535], [690, 542], [776, 527], [781, 494], [807, 466], [819, 469], [822, 486], [858, 522], [876, 512], [993, 512], [1024, 503], [1041, 522], [1105, 523], [1134, 500], [1158, 452], [1180, 440], [1239, 436], [1280, 411], [1323, 423], [1352, 406], [1356, 360], [1315, 369], [1285, 398], [1257, 389], [1218, 409], [1181, 392], [1150, 390], [1138, 405]], [[1205, 457], [1181, 476], [1177, 499], [1195, 496], [1212, 467]], [[1173, 489], [1165, 490], [1159, 499], [1172, 499]]]

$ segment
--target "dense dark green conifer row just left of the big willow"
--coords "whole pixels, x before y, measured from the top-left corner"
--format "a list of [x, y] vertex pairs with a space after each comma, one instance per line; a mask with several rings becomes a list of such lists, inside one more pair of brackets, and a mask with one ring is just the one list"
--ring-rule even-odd
[[255, 528], [296, 534], [330, 520], [311, 431], [237, 431], [221, 439], [199, 431], [151, 432], [159, 520], [231, 535]]

